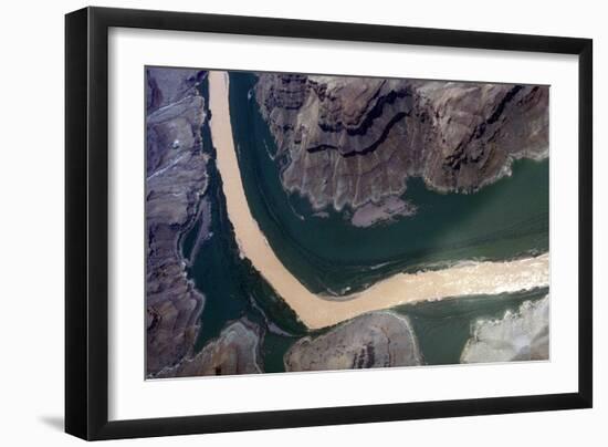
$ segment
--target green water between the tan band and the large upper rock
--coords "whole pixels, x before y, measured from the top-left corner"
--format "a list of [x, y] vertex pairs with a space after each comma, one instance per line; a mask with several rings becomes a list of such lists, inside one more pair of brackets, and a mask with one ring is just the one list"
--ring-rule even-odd
[[418, 211], [391, 225], [356, 228], [343, 214], [316, 217], [284, 190], [276, 147], [250, 94], [255, 76], [230, 73], [232, 132], [245, 195], [273, 250], [313, 292], [363, 289], [400, 271], [463, 259], [513, 259], [548, 250], [548, 162], [514, 163], [513, 176], [476, 194], [439, 194], [411, 178]]

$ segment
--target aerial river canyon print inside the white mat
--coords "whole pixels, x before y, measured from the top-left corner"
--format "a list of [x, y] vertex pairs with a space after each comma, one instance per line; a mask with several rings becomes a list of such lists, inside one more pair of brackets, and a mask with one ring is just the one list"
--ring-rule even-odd
[[548, 85], [144, 83], [146, 378], [551, 358]]

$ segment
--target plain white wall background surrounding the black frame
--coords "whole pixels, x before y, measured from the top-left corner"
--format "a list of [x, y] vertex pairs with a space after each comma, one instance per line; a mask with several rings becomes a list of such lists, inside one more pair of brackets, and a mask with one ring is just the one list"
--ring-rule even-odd
[[[63, 14], [69, 0], [4, 2], [0, 45], [0, 443], [75, 445], [63, 426]], [[595, 408], [290, 430], [120, 441], [122, 445], [311, 446], [378, 441], [410, 445], [601, 445], [608, 439], [608, 29], [602, 2], [433, 0], [99, 1], [97, 6], [374, 22], [480, 31], [587, 37], [595, 40]], [[346, 8], [348, 6], [348, 8]], [[604, 178], [602, 178], [604, 177]], [[574, 185], [573, 185], [574, 187]], [[575, 256], [575, 253], [573, 253]], [[602, 424], [604, 423], [604, 424]], [[604, 441], [604, 443], [602, 443]]]

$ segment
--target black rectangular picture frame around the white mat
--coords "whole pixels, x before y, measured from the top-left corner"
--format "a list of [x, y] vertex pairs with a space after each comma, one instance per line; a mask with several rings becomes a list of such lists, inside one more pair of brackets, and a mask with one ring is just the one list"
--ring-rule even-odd
[[[109, 422], [107, 67], [111, 27], [578, 55], [578, 392]], [[590, 39], [85, 8], [65, 17], [65, 432], [93, 440], [591, 407]]]

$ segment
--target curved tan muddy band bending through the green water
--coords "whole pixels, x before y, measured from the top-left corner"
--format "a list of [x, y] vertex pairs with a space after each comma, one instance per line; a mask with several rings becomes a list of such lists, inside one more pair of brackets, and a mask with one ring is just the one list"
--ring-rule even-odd
[[241, 253], [251, 260], [310, 329], [333, 325], [369, 311], [408, 302], [548, 285], [549, 259], [545, 253], [509, 262], [476, 262], [438, 271], [400, 273], [353, 297], [345, 297], [343, 301], [328, 301], [310, 292], [279, 260], [250, 212], [232, 137], [228, 82], [228, 73], [209, 72], [211, 136], [217, 148], [228, 215]]

